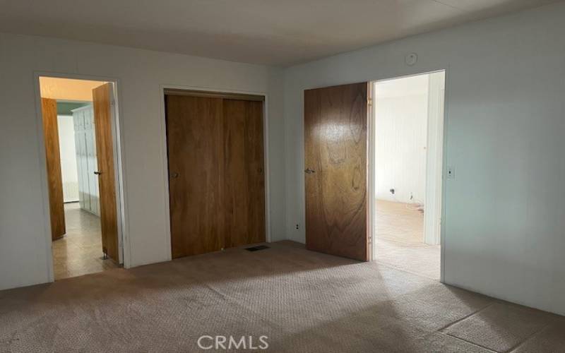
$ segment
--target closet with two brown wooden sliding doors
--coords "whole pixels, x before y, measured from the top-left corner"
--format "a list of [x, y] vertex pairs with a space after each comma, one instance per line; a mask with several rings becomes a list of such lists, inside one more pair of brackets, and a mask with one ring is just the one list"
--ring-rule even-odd
[[265, 241], [263, 103], [165, 90], [173, 258]]

